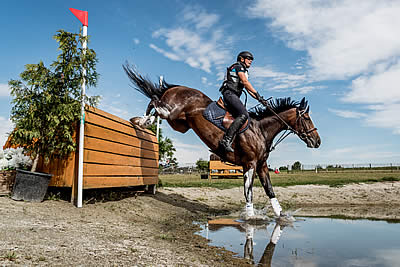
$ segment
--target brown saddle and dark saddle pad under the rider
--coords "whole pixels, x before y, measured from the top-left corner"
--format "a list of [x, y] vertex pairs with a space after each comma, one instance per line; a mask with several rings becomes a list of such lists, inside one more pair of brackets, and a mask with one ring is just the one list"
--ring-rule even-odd
[[[206, 118], [209, 122], [220, 128], [222, 131], [226, 131], [229, 126], [231, 126], [232, 122], [235, 118], [232, 114], [229, 113], [227, 108], [225, 107], [224, 100], [222, 97], [218, 99], [218, 101], [211, 102], [203, 112], [204, 118]], [[240, 128], [239, 133], [243, 133], [250, 126], [250, 118], [243, 124], [242, 128]]]

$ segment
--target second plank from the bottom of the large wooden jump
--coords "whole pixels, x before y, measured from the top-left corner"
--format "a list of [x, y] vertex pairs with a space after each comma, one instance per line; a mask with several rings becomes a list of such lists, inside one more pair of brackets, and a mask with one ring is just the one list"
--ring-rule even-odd
[[146, 176], [158, 175], [158, 168], [118, 166], [118, 165], [102, 165], [93, 163], [83, 164], [83, 173], [85, 176]]

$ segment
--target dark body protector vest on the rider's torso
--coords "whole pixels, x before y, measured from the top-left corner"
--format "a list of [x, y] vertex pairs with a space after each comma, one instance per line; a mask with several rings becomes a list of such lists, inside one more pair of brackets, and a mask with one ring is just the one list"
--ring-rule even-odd
[[239, 72], [244, 72], [246, 75], [246, 78], [249, 78], [249, 72], [244, 64], [241, 62], [236, 62], [226, 70], [226, 74], [224, 77], [224, 82], [222, 83], [221, 88], [219, 91], [221, 93], [225, 92], [226, 90], [230, 90], [234, 92], [237, 96], [240, 97], [240, 95], [243, 92], [244, 85], [240, 81]]

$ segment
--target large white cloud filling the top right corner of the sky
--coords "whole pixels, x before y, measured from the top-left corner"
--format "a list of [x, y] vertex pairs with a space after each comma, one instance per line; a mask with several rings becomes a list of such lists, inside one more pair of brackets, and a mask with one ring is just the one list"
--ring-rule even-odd
[[307, 51], [317, 77], [351, 77], [400, 55], [398, 1], [258, 0], [249, 11], [289, 47]]

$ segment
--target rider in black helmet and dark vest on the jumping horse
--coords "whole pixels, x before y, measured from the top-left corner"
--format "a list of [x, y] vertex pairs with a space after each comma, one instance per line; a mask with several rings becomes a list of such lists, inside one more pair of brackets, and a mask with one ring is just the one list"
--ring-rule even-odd
[[231, 147], [233, 139], [249, 117], [246, 107], [240, 101], [243, 88], [246, 88], [247, 92], [255, 99], [259, 101], [264, 100], [248, 80], [247, 69], [250, 68], [253, 59], [254, 57], [250, 52], [240, 52], [237, 56], [237, 62], [227, 69], [224, 82], [219, 89], [228, 111], [235, 118], [229, 129], [225, 132], [224, 138], [219, 142], [227, 152], [234, 151]]

